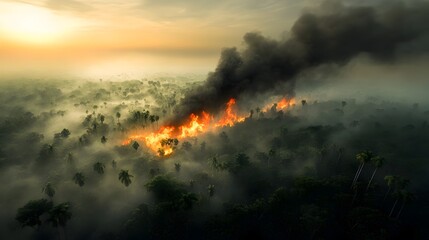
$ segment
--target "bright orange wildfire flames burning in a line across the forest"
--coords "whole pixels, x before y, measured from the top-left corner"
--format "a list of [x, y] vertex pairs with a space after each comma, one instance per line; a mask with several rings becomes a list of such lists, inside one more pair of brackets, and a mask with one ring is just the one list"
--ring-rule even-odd
[[[122, 145], [129, 145], [133, 141], [144, 141], [146, 146], [156, 152], [158, 156], [168, 156], [177, 147], [178, 139], [195, 137], [214, 128], [231, 127], [236, 123], [243, 122], [245, 116], [237, 114], [235, 104], [235, 99], [231, 98], [226, 104], [224, 113], [217, 121], [205, 111], [199, 115], [192, 113], [189, 116], [189, 120], [180, 126], [163, 126], [156, 132], [133, 134], [123, 141]], [[287, 100], [283, 98], [277, 103], [277, 109], [284, 109], [292, 104], [295, 104], [294, 99]]]

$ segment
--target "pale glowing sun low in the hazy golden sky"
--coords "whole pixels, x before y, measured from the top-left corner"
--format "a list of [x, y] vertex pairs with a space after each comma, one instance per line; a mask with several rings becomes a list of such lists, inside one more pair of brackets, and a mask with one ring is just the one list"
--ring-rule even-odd
[[28, 4], [0, 4], [3, 37], [25, 43], [52, 43], [63, 37], [72, 22], [45, 8]]

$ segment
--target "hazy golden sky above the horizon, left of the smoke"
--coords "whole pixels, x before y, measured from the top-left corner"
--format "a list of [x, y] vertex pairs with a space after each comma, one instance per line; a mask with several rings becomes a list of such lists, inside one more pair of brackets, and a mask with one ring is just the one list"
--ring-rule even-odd
[[246, 32], [280, 38], [308, 0], [0, 0], [0, 74], [207, 72]]

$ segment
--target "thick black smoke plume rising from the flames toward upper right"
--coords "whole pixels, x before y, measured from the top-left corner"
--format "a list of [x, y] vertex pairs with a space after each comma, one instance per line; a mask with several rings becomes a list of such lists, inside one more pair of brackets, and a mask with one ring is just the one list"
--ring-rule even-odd
[[342, 66], [360, 54], [392, 61], [401, 46], [429, 32], [428, 22], [429, 4], [423, 2], [359, 7], [323, 4], [317, 11], [302, 14], [288, 39], [247, 33], [245, 48], [222, 51], [216, 70], [182, 99], [173, 122], [203, 110], [216, 113], [232, 97], [282, 86], [286, 86], [284, 94], [293, 95], [296, 77], [324, 64]]

